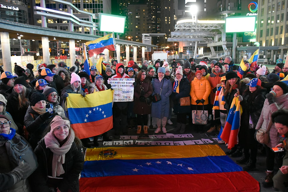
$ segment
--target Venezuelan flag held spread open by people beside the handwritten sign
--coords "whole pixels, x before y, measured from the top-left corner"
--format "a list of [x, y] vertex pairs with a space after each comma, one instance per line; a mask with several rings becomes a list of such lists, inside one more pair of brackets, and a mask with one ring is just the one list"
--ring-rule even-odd
[[93, 137], [113, 127], [113, 94], [111, 89], [88, 94], [86, 97], [81, 94], [68, 94], [68, 116], [77, 137]]

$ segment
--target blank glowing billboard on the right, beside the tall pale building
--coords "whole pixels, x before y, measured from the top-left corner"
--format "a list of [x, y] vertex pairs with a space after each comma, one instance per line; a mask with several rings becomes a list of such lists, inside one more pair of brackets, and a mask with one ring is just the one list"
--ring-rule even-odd
[[225, 18], [225, 32], [254, 32], [256, 16], [239, 16]]

